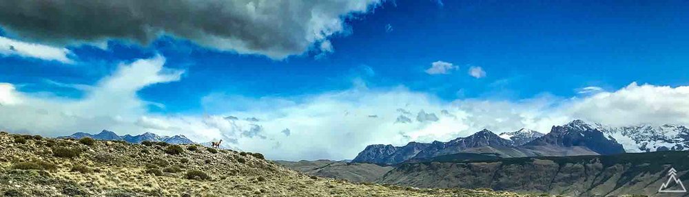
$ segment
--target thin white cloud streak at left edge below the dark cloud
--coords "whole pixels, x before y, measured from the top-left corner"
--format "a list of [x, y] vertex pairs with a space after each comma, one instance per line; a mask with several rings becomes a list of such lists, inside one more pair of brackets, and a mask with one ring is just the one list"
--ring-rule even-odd
[[69, 58], [72, 54], [72, 51], [69, 49], [24, 43], [3, 36], [0, 36], [0, 54], [3, 56], [21, 56], [41, 60], [54, 60], [66, 64], [74, 63], [74, 60]]

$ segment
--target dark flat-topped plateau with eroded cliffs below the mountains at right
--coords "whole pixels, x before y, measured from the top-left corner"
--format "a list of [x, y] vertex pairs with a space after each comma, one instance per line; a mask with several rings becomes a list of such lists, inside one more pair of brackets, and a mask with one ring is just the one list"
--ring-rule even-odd
[[[689, 152], [650, 152], [608, 156], [509, 158], [483, 162], [404, 163], [380, 183], [413, 187], [491, 188], [553, 195], [657, 196], [674, 167], [689, 179]], [[686, 194], [682, 194], [688, 196]]]

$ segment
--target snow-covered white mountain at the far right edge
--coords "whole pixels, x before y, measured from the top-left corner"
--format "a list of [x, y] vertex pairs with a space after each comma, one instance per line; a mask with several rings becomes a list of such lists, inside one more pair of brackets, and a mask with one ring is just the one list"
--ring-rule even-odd
[[676, 124], [652, 126], [612, 127], [594, 124], [608, 137], [624, 146], [626, 152], [654, 152], [663, 150], [689, 150], [689, 128]]

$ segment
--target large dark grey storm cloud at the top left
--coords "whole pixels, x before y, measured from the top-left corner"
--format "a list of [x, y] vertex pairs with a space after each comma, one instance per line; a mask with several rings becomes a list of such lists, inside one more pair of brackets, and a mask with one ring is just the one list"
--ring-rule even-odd
[[0, 25], [57, 45], [108, 38], [147, 44], [169, 34], [240, 54], [302, 54], [345, 30], [342, 17], [367, 1], [0, 0]]

